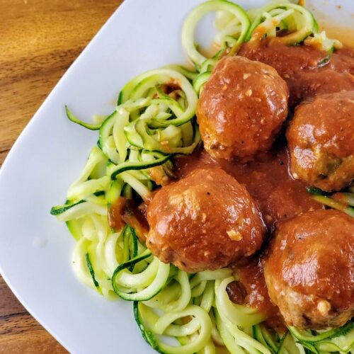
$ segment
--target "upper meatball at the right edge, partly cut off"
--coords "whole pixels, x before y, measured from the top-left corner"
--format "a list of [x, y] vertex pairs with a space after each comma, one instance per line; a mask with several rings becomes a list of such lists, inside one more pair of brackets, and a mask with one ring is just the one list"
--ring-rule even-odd
[[354, 179], [354, 91], [297, 106], [287, 130], [290, 171], [309, 185], [341, 190]]

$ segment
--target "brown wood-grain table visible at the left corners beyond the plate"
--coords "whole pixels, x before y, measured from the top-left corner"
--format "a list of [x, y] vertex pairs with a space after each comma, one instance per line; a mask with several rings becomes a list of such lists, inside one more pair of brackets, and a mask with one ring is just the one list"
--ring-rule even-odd
[[[0, 0], [0, 166], [74, 59], [122, 0]], [[0, 277], [0, 353], [67, 353]]]

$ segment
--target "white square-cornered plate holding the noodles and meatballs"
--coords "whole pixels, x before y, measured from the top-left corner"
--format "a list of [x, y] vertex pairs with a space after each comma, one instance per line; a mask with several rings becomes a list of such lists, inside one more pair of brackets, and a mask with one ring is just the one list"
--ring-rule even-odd
[[[81, 171], [97, 132], [69, 122], [108, 114], [126, 81], [147, 69], [185, 63], [181, 25], [200, 0], [127, 0], [50, 93], [21, 134], [0, 174], [0, 270], [11, 290], [72, 353], [152, 353], [129, 302], [109, 302], [72, 273], [74, 240], [50, 215]], [[239, 1], [259, 6], [265, 1]], [[350, 21], [350, 0], [312, 1]], [[353, 17], [351, 17], [353, 25]], [[350, 22], [349, 22], [350, 23]], [[207, 28], [205, 28], [207, 31]], [[204, 34], [204, 33], [203, 33]]]

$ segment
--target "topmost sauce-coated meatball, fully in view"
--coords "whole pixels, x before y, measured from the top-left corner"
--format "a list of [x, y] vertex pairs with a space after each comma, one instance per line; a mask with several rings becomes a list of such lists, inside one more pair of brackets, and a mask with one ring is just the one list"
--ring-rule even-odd
[[204, 147], [222, 159], [249, 159], [270, 149], [287, 117], [287, 84], [272, 67], [224, 57], [197, 107]]

